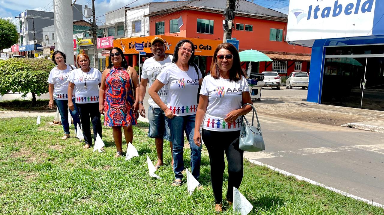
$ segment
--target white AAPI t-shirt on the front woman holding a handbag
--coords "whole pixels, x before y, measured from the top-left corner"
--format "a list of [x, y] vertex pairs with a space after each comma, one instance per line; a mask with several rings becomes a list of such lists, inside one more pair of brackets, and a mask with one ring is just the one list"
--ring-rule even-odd
[[237, 82], [230, 79], [214, 79], [211, 75], [204, 77], [200, 94], [208, 96], [207, 114], [203, 128], [210, 131], [238, 131], [241, 116], [233, 123], [226, 123], [224, 119], [232, 110], [241, 108], [243, 92], [249, 92], [245, 77]]

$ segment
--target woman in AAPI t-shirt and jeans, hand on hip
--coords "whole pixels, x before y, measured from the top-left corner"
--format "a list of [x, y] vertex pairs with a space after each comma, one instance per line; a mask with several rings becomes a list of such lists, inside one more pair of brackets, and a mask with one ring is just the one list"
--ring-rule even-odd
[[[184, 131], [189, 140], [191, 149], [190, 167], [192, 175], [198, 179], [200, 176], [201, 146], [193, 142], [195, 114], [197, 108], [197, 90], [202, 82], [200, 70], [194, 67], [194, 44], [183, 39], [177, 43], [172, 64], [165, 67], [149, 88], [149, 95], [164, 111], [169, 119], [168, 125], [172, 136], [172, 153], [174, 159], [175, 180], [173, 186], [180, 186], [184, 170], [183, 149]], [[157, 94], [164, 85], [168, 86], [167, 104], [162, 102]], [[200, 187], [199, 187], [200, 188]]]

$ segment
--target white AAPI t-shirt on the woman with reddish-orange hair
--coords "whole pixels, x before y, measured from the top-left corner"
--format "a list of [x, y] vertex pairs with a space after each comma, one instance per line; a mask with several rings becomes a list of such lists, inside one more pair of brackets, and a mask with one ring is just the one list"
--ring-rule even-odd
[[[68, 77], [68, 81], [74, 83], [74, 95], [76, 103], [99, 102], [99, 83], [101, 83], [101, 72], [91, 68], [89, 72], [75, 69]], [[86, 83], [87, 89], [84, 84]]]

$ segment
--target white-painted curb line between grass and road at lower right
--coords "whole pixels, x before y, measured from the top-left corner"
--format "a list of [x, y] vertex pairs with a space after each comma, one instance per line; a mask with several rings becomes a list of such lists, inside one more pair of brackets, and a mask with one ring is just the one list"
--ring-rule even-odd
[[273, 166], [269, 166], [267, 164], [263, 164], [262, 162], [259, 162], [259, 161], [255, 161], [253, 159], [249, 159], [249, 161], [253, 164], [256, 164], [256, 165], [259, 165], [259, 166], [265, 166], [265, 167], [268, 167], [269, 169], [273, 170], [273, 171], [276, 171], [276, 172], [279, 172], [285, 176], [293, 176], [295, 177], [296, 179], [300, 180], [300, 181], [306, 181], [308, 183], [311, 183], [311, 184], [314, 184], [316, 186], [319, 186], [319, 187], [323, 187], [327, 190], [331, 190], [335, 193], [338, 193], [338, 194], [341, 194], [341, 195], [344, 195], [346, 197], [350, 197], [352, 199], [356, 199], [356, 200], [359, 200], [359, 201], [362, 201], [362, 202], [366, 202], [367, 204], [370, 204], [370, 205], [373, 205], [373, 206], [376, 206], [376, 207], [381, 207], [381, 208], [384, 208], [384, 205], [382, 204], [379, 204], [377, 202], [374, 202], [374, 201], [370, 201], [370, 200], [367, 200], [367, 199], [363, 199], [361, 197], [357, 197], [355, 195], [352, 195], [352, 194], [349, 194], [347, 192], [344, 192], [344, 191], [341, 191], [341, 190], [338, 190], [336, 188], [333, 188], [333, 187], [329, 187], [327, 185], [324, 185], [324, 184], [320, 184], [319, 182], [316, 182], [316, 181], [312, 181], [311, 179], [307, 179], [303, 176], [298, 176], [298, 175], [295, 175], [295, 174], [292, 174], [290, 172], [287, 172], [287, 171], [284, 171], [284, 170], [281, 170], [281, 169], [278, 169], [278, 168], [275, 168]]

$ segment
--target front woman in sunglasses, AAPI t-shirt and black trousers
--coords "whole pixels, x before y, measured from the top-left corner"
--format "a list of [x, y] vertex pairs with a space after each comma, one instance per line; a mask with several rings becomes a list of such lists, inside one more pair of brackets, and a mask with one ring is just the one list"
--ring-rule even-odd
[[[215, 210], [220, 212], [225, 168], [224, 152], [228, 160], [226, 199], [229, 205], [233, 201], [233, 187], [238, 189], [243, 178], [243, 150], [238, 148], [240, 119], [242, 115], [252, 110], [251, 107], [242, 105], [252, 103], [252, 100], [235, 46], [230, 43], [219, 44], [214, 52], [210, 71], [211, 74], [205, 76], [201, 85], [194, 142], [197, 146], [201, 146], [202, 137], [207, 147]], [[201, 123], [203, 130], [200, 136]]]

